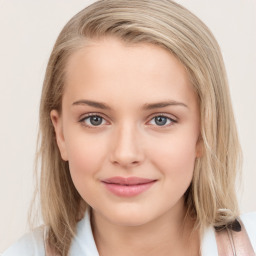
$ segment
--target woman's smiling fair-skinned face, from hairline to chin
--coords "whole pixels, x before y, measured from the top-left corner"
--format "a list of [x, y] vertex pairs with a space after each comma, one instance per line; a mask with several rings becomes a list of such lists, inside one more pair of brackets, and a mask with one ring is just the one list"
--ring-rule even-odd
[[180, 215], [200, 154], [183, 65], [159, 46], [104, 38], [75, 52], [66, 72], [62, 112], [51, 118], [82, 198], [119, 225]]

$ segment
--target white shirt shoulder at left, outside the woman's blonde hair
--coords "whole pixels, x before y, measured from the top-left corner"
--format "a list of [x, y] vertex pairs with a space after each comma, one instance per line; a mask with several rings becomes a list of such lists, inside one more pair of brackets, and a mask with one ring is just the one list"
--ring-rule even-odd
[[44, 232], [44, 228], [40, 227], [24, 235], [9, 247], [2, 256], [44, 256]]

